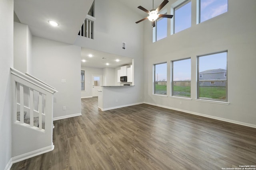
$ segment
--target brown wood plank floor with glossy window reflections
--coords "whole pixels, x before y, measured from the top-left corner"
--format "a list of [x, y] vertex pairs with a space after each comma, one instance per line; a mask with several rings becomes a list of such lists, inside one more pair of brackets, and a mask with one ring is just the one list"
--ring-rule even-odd
[[51, 152], [12, 170], [221, 170], [256, 165], [256, 129], [140, 104], [54, 121]]

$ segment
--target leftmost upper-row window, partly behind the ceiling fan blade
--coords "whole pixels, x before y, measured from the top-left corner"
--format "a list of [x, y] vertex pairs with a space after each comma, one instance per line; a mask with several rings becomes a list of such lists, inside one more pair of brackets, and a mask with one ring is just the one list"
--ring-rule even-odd
[[165, 37], [167, 37], [167, 18], [159, 18], [153, 28], [153, 43]]

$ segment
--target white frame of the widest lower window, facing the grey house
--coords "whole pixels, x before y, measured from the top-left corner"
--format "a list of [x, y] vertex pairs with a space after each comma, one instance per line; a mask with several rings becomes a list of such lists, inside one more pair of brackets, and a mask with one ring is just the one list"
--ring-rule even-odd
[[[200, 57], [205, 57], [205, 56], [208, 56], [208, 55], [214, 55], [214, 54], [219, 54], [219, 53], [226, 53], [226, 80], [199, 80], [199, 60], [200, 60]], [[208, 54], [205, 54], [205, 55], [199, 55], [197, 56], [197, 100], [208, 100], [208, 101], [213, 101], [213, 102], [228, 102], [228, 51], [220, 51], [220, 52], [216, 52], [216, 53], [208, 53]], [[199, 85], [200, 85], [200, 82], [222, 82], [222, 81], [225, 81], [226, 83], [226, 99], [225, 100], [218, 100], [218, 99], [212, 99], [212, 98], [200, 98], [199, 97]]]

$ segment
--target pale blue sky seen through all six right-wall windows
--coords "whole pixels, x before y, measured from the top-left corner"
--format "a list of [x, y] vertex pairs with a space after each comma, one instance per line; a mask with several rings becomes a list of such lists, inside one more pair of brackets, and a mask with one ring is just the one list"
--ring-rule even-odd
[[[201, 17], [200, 21], [206, 21], [228, 11], [228, 0], [201, 0]], [[175, 33], [191, 27], [191, 2], [177, 8], [175, 12]], [[180, 21], [180, 22], [179, 22]], [[158, 20], [157, 23], [157, 40], [167, 36], [167, 18]], [[199, 57], [199, 72], [210, 69], [226, 69], [227, 53], [217, 53], [205, 57]], [[174, 81], [191, 79], [190, 60], [176, 61], [174, 65]], [[156, 74], [158, 80], [167, 80], [167, 64], [156, 65]]]

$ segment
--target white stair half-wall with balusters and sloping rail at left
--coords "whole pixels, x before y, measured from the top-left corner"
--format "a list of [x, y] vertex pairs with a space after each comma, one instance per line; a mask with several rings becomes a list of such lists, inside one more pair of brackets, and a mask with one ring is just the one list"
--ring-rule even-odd
[[54, 149], [53, 94], [48, 84], [11, 68], [12, 162]]

